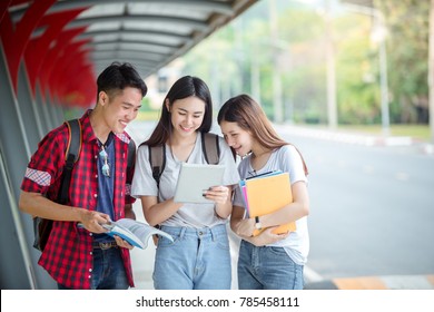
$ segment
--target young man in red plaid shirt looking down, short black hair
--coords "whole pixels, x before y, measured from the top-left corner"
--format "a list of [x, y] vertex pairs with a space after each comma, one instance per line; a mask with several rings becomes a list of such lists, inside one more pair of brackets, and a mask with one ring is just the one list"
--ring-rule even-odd
[[134, 167], [127, 173], [131, 138], [125, 128], [137, 117], [147, 86], [131, 65], [118, 62], [99, 75], [97, 86], [95, 109], [80, 118], [81, 153], [73, 166], [67, 205], [55, 202], [68, 145], [66, 124], [39, 143], [21, 185], [20, 209], [55, 221], [38, 263], [59, 289], [134, 286], [132, 246], [103, 234], [101, 224], [135, 218], [135, 199], [129, 196]]

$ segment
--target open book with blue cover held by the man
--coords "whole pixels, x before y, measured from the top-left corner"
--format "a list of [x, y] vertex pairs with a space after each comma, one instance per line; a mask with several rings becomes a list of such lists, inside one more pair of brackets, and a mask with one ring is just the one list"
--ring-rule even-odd
[[110, 223], [101, 224], [101, 226], [108, 230], [105, 234], [110, 236], [117, 235], [127, 241], [131, 246], [142, 250], [148, 246], [149, 238], [155, 234], [174, 242], [174, 237], [171, 237], [170, 234], [132, 218], [120, 218], [116, 222], [111, 221]]

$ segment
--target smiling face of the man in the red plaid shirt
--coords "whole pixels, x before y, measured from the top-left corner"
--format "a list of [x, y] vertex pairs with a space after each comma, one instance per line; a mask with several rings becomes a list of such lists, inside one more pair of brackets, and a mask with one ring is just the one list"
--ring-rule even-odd
[[110, 96], [105, 91], [99, 94], [106, 126], [114, 133], [124, 133], [127, 125], [132, 121], [141, 107], [142, 95], [139, 89], [127, 87]]

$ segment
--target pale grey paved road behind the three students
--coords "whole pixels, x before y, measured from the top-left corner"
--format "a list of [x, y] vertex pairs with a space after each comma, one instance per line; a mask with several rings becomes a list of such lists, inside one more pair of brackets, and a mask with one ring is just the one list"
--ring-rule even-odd
[[[136, 125], [130, 133], [141, 142], [152, 125]], [[328, 281], [341, 282], [338, 287], [345, 287], [354, 286], [347, 277], [382, 276], [386, 287], [433, 287], [434, 156], [426, 153], [431, 147], [407, 138], [386, 142], [277, 128], [299, 147], [310, 169], [307, 282], [323, 286]], [[142, 217], [139, 204], [135, 209]], [[238, 241], [233, 236], [230, 241], [236, 267]], [[154, 246], [132, 252], [138, 289], [152, 287], [154, 255]], [[367, 287], [377, 284], [374, 280]], [[366, 279], [361, 283], [366, 285]]]

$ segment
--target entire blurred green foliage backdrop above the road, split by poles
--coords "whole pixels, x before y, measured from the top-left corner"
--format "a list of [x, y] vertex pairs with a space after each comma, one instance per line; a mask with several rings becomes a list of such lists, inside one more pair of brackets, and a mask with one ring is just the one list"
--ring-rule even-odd
[[[286, 121], [327, 123], [325, 1], [276, 0], [278, 41], [270, 32], [269, 0], [259, 1], [184, 57], [184, 75], [210, 86], [215, 108], [235, 95], [253, 95], [274, 119], [273, 72], [278, 70]], [[385, 13], [392, 123], [427, 124], [430, 1], [376, 0]], [[378, 46], [374, 20], [333, 11], [338, 123], [379, 124]]]

